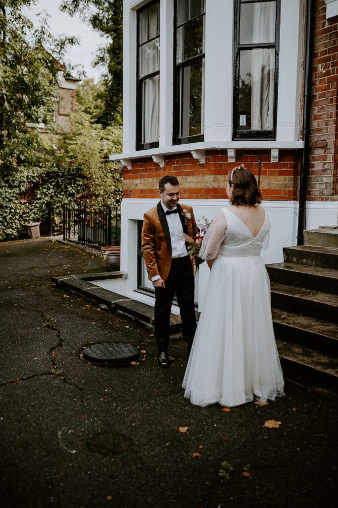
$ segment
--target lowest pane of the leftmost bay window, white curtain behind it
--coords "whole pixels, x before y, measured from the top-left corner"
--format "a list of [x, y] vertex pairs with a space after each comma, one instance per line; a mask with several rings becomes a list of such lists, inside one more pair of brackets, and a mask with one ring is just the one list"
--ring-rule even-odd
[[160, 76], [142, 83], [142, 143], [159, 141], [160, 133]]

